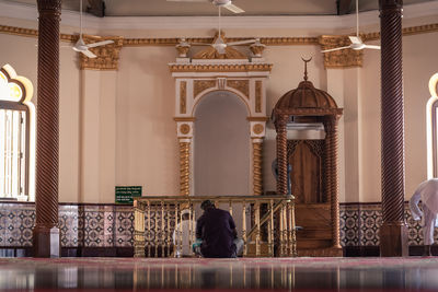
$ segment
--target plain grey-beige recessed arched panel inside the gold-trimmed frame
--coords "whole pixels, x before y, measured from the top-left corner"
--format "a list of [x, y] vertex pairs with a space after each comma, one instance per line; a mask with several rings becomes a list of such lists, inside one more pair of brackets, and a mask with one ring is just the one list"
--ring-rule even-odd
[[247, 195], [250, 131], [245, 104], [229, 91], [201, 97], [195, 110], [195, 196]]

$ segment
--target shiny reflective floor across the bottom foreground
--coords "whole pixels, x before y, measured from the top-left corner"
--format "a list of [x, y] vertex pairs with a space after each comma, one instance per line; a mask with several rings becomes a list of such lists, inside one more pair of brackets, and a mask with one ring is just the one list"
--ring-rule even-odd
[[0, 258], [0, 291], [438, 291], [438, 257]]

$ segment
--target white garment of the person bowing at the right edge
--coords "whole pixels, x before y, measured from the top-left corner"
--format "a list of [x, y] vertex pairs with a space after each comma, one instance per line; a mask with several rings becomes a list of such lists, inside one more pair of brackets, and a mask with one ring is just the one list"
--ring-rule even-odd
[[[418, 208], [419, 200], [423, 202], [423, 212]], [[414, 220], [423, 218], [424, 244], [434, 244], [434, 229], [438, 226], [438, 178], [431, 178], [418, 185], [410, 200], [410, 209]]]

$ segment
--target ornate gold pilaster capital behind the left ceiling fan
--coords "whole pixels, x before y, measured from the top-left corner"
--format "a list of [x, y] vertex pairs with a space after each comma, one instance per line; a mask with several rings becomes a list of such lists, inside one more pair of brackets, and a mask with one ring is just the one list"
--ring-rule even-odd
[[95, 48], [90, 48], [96, 58], [88, 58], [83, 54], [80, 55], [80, 67], [82, 70], [92, 69], [92, 70], [117, 70], [118, 69], [118, 55], [123, 46], [123, 37], [122, 36], [111, 36], [111, 37], [101, 37], [101, 36], [91, 36], [91, 35], [82, 35], [83, 42], [85, 44], [95, 43], [106, 39], [114, 40], [113, 44], [100, 46]]

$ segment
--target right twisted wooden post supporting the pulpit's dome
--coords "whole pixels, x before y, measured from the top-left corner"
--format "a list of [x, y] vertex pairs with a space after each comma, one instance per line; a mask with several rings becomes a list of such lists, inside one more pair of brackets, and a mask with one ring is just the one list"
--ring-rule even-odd
[[331, 205], [332, 247], [341, 248], [339, 240], [339, 198], [337, 183], [337, 121], [341, 116], [327, 116], [325, 128], [326, 194]]

